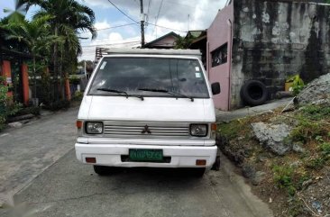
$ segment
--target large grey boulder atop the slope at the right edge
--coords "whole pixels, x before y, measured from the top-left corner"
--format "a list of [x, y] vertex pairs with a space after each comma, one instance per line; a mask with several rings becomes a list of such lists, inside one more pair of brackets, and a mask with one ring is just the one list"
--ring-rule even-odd
[[330, 73], [318, 77], [303, 89], [296, 97], [295, 102], [302, 104], [320, 104], [329, 102], [330, 98]]

